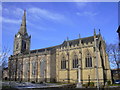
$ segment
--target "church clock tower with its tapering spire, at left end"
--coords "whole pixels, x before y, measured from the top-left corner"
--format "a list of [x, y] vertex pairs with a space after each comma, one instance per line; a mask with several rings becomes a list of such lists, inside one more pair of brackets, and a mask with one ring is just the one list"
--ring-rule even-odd
[[15, 35], [14, 39], [14, 55], [19, 53], [27, 53], [30, 50], [30, 39], [31, 36], [28, 35], [26, 29], [26, 11], [24, 10], [24, 15], [22, 17], [22, 24], [20, 30]]

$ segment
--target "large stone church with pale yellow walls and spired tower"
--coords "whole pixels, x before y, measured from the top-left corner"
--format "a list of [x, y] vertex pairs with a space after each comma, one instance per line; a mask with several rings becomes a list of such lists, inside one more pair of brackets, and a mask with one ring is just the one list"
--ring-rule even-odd
[[67, 39], [60, 45], [42, 49], [30, 50], [30, 42], [24, 11], [22, 24], [14, 38], [13, 55], [9, 57], [10, 80], [77, 83], [79, 77], [82, 84], [111, 81], [105, 41], [95, 30], [93, 36]]

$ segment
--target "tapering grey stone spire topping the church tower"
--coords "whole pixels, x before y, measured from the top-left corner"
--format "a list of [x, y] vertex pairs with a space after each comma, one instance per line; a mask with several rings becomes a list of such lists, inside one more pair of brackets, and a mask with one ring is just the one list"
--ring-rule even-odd
[[24, 15], [22, 17], [22, 23], [21, 23], [19, 33], [21, 33], [22, 35], [27, 33], [27, 29], [26, 29], [26, 10], [24, 10]]

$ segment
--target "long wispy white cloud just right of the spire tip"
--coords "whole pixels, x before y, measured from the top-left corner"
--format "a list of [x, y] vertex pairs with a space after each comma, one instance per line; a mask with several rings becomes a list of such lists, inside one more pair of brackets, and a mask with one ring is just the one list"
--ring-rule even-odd
[[35, 18], [38, 18], [38, 19], [44, 18], [44, 19], [50, 19], [54, 21], [62, 21], [65, 19], [64, 15], [50, 12], [45, 9], [36, 8], [36, 7], [29, 8], [28, 13], [30, 13], [31, 15], [33, 15]]

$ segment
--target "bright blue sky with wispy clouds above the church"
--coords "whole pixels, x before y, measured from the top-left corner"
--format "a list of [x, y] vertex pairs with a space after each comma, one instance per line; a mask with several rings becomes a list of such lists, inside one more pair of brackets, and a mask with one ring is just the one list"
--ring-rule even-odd
[[31, 50], [92, 36], [99, 29], [107, 43], [117, 42], [117, 2], [19, 2], [2, 3], [2, 45], [13, 52], [14, 35], [20, 29], [23, 10], [27, 11], [27, 32]]

